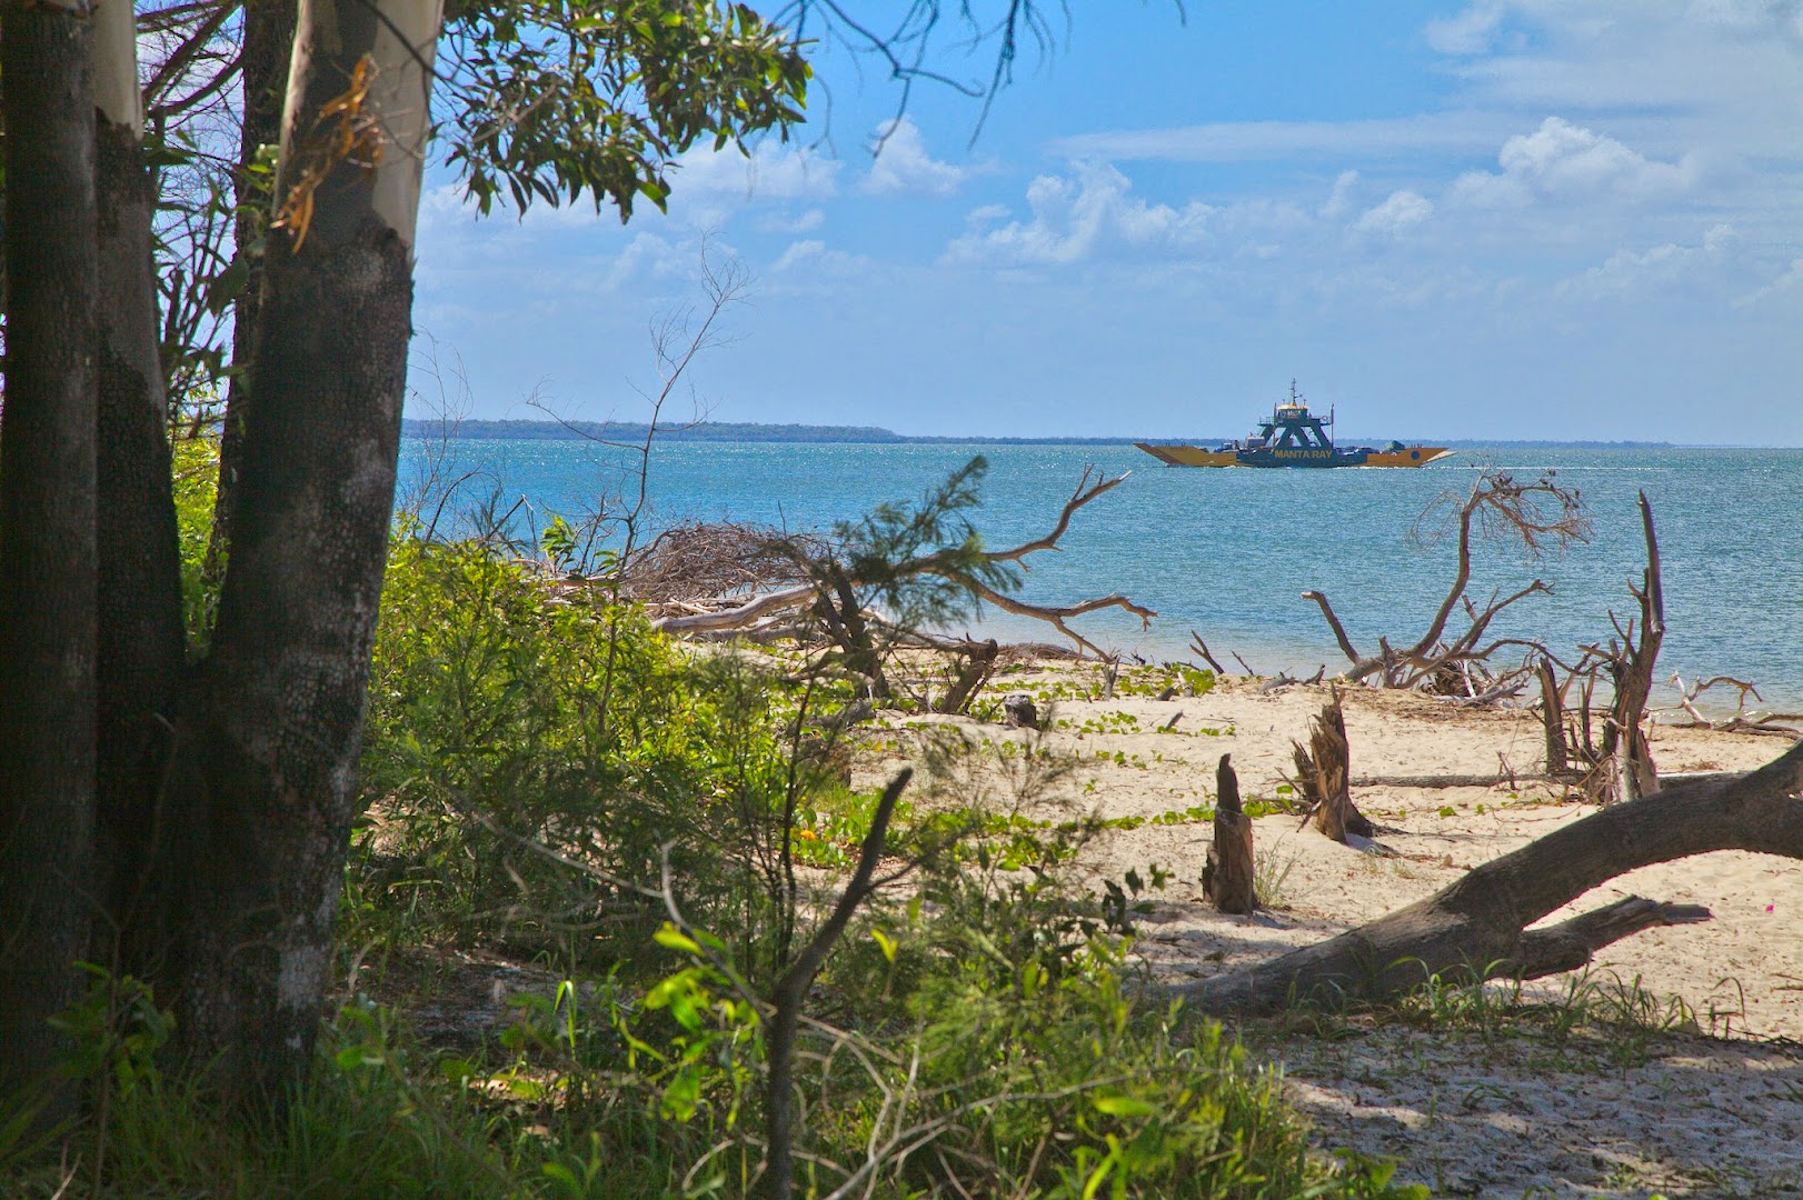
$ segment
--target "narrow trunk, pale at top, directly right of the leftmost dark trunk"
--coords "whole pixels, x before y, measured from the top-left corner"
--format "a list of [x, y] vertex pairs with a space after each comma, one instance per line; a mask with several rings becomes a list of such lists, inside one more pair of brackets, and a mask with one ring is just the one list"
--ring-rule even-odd
[[155, 184], [144, 164], [130, 4], [96, 16], [97, 105], [96, 308], [99, 429], [99, 665], [94, 845], [108, 912], [94, 959], [150, 977], [153, 964], [119, 939], [132, 923], [157, 843], [157, 777], [182, 670], [182, 566], [169, 494], [164, 377], [151, 267]]

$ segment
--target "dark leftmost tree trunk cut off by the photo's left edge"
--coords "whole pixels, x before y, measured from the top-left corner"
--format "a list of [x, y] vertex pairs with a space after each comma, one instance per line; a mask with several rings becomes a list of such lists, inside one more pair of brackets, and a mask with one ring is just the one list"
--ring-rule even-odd
[[83, 7], [0, 5], [0, 1088], [47, 1076], [94, 881], [94, 74]]

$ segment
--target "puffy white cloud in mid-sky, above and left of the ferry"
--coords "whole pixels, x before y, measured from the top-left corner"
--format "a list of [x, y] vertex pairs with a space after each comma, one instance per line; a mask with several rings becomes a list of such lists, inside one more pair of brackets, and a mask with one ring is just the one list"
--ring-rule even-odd
[[1105, 162], [1080, 162], [1075, 178], [1040, 175], [1026, 189], [1031, 220], [986, 229], [1006, 214], [986, 205], [970, 214], [970, 232], [948, 249], [952, 259], [1067, 265], [1103, 247], [1194, 249], [1208, 236], [1213, 209], [1181, 209], [1127, 195], [1132, 182]]

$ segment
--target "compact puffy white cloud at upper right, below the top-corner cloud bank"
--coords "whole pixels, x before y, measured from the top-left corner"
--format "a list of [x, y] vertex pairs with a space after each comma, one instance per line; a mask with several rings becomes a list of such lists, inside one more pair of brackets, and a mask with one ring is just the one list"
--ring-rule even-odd
[[1561, 117], [1547, 117], [1533, 133], [1511, 137], [1496, 162], [1500, 173], [1459, 177], [1453, 195], [1478, 207], [1525, 205], [1538, 196], [1646, 200], [1680, 193], [1698, 177], [1691, 159], [1659, 162]]

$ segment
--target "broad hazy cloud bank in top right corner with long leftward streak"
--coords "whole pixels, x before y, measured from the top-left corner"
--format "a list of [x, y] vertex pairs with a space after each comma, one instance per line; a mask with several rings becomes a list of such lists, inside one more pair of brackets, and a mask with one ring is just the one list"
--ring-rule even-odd
[[1482, 153], [1549, 112], [1606, 112], [1615, 137], [1679, 159], [1798, 160], [1803, 4], [1798, 0], [1475, 0], [1428, 22], [1450, 56], [1444, 108], [1352, 121], [1237, 121], [1055, 139], [1051, 153], [1109, 162], [1354, 164]]

